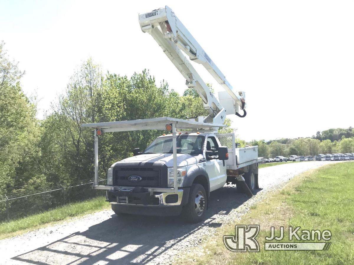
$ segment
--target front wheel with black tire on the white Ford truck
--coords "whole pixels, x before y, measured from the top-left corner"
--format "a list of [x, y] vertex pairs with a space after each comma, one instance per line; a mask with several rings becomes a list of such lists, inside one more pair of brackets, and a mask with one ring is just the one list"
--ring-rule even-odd
[[[196, 204], [197, 200], [199, 201], [198, 206]], [[201, 184], [192, 184], [189, 190], [188, 203], [183, 207], [185, 219], [192, 224], [201, 222], [204, 219], [207, 201], [204, 187]], [[200, 210], [201, 212], [197, 213]]]

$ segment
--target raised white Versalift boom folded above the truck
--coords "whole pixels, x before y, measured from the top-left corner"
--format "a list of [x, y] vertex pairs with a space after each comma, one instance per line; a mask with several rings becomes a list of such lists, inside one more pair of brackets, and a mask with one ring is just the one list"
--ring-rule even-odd
[[[192, 34], [184, 27], [170, 7], [166, 6], [152, 12], [139, 14], [139, 23], [141, 30], [153, 36], [166, 56], [185, 77], [187, 87], [194, 88], [202, 98], [204, 108], [209, 112], [209, 116], [204, 119], [204, 122], [222, 124], [224, 123], [226, 114], [237, 113], [239, 107], [241, 110], [244, 110], [246, 107], [245, 93], [233, 91], [232, 86], [226, 80], [223, 73], [194, 39]], [[211, 93], [182, 51], [188, 55], [190, 60], [202, 64], [215, 80], [221, 84], [228, 95], [225, 96], [223, 94], [221, 99], [219, 94], [219, 98], [228, 105], [227, 109]], [[230, 101], [232, 102], [232, 106], [229, 104]]]

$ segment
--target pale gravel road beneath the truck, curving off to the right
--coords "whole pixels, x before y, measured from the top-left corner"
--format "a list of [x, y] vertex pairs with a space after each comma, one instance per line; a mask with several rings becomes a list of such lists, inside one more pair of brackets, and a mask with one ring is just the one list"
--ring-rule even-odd
[[283, 163], [259, 169], [259, 190], [248, 198], [225, 186], [210, 194], [207, 219], [185, 224], [179, 217], [125, 216], [101, 211], [0, 241], [1, 264], [172, 264], [201, 238], [233, 222], [267, 193], [299, 173], [331, 161]]

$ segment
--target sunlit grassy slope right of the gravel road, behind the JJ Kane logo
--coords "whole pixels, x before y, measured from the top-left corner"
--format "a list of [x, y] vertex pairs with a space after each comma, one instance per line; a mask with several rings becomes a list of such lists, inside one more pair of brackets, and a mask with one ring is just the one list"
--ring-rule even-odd
[[[223, 244], [223, 235], [234, 235], [235, 224], [259, 224], [257, 240], [260, 252], [231, 252]], [[338, 163], [303, 173], [267, 200], [253, 205], [251, 211], [233, 225], [220, 228], [205, 238], [199, 257], [187, 256], [178, 263], [193, 264], [354, 264], [354, 163]], [[265, 237], [274, 226], [289, 231], [330, 230], [327, 251], [265, 251]], [[289, 234], [289, 233], [288, 233]], [[284, 242], [289, 242], [285, 233]], [[321, 241], [324, 242], [324, 241]]]

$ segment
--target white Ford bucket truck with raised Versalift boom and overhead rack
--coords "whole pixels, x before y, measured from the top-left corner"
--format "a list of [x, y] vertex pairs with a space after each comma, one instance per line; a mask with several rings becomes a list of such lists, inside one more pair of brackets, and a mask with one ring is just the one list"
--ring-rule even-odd
[[[213, 190], [230, 182], [250, 196], [258, 187], [258, 147], [236, 148], [234, 134], [217, 134], [226, 115], [246, 116], [245, 92], [235, 92], [210, 56], [201, 48], [175, 13], [166, 6], [139, 14], [144, 33], [149, 33], [200, 95], [207, 117], [183, 120], [169, 117], [82, 124], [95, 129], [94, 189], [107, 190], [115, 213], [179, 215], [200, 222]], [[192, 66], [203, 65], [224, 89], [218, 99]], [[239, 114], [239, 110], [243, 114]], [[98, 137], [102, 133], [134, 130], [166, 130], [143, 152], [114, 163], [107, 185], [98, 184]]]

